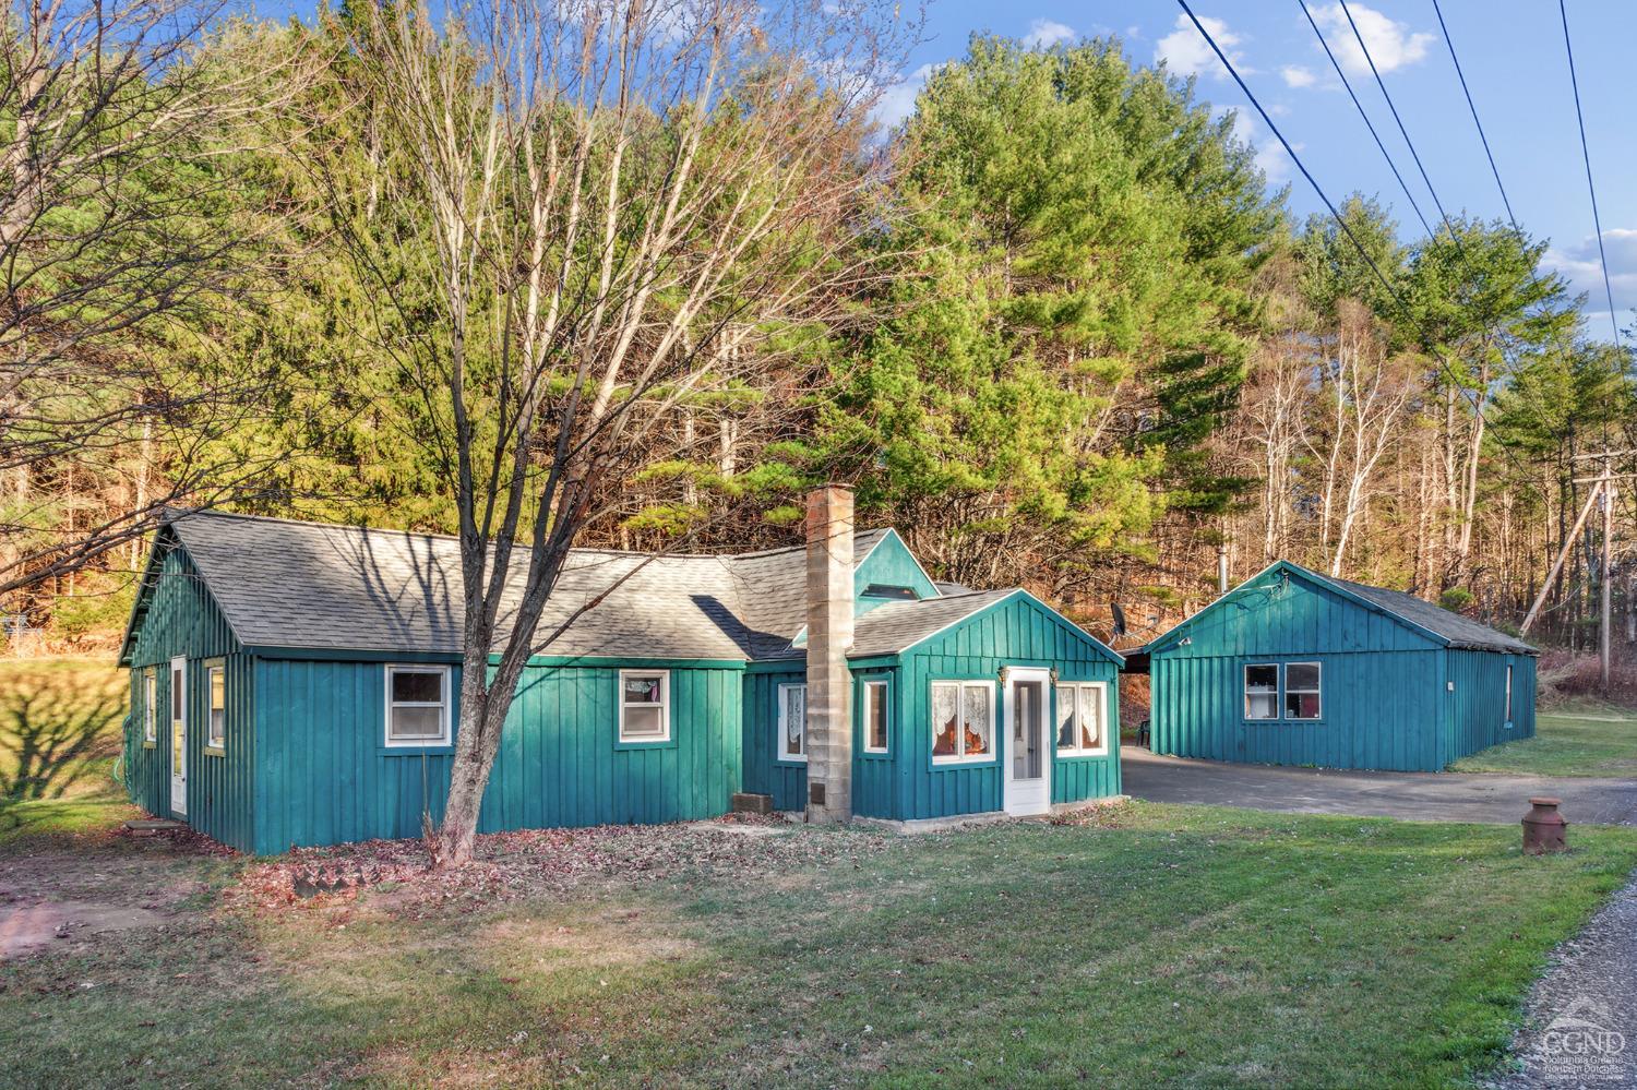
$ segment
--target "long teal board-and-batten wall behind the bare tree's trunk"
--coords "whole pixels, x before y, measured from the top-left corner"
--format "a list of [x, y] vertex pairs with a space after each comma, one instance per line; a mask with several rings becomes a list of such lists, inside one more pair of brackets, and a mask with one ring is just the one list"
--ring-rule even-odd
[[[737, 664], [666, 666], [671, 738], [619, 741], [619, 668], [530, 663], [480, 831], [681, 822], [725, 813], [740, 781]], [[259, 660], [257, 851], [417, 836], [442, 818], [452, 746], [386, 746], [386, 664]], [[458, 704], [460, 668], [450, 666]], [[458, 705], [450, 709], [458, 720]]]

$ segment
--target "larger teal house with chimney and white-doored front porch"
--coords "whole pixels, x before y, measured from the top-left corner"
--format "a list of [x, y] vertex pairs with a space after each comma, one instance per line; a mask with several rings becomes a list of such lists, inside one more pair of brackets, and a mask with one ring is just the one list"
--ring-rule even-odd
[[[419, 835], [458, 728], [460, 602], [453, 538], [167, 520], [120, 651], [131, 799], [259, 854]], [[853, 532], [840, 488], [792, 548], [576, 550], [540, 632], [570, 620], [519, 682], [485, 831], [1120, 790], [1121, 658], [1021, 589], [933, 583], [895, 532]]]

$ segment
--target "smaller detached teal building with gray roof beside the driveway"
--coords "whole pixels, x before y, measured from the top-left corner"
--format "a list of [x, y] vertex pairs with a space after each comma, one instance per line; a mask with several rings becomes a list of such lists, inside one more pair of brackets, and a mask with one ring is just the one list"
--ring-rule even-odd
[[1287, 561], [1144, 650], [1154, 753], [1432, 772], [1534, 735], [1532, 646]]

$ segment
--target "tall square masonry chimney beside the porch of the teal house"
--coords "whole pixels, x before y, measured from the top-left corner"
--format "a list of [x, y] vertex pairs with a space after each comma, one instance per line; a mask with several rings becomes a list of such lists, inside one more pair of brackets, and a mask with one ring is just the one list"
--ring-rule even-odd
[[853, 489], [807, 494], [807, 820], [853, 817]]

